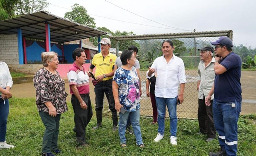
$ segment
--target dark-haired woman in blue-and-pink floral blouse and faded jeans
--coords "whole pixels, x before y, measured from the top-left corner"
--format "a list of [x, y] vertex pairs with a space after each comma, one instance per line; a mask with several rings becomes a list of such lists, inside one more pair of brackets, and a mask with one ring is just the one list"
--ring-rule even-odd
[[140, 130], [140, 93], [139, 78], [135, 67], [135, 57], [132, 50], [125, 50], [120, 57], [123, 66], [118, 68], [113, 77], [113, 95], [115, 109], [120, 112], [121, 108], [125, 113], [119, 113], [118, 133], [122, 148], [127, 147], [125, 138], [126, 123], [131, 114], [131, 124], [136, 138], [136, 145], [145, 147]]

